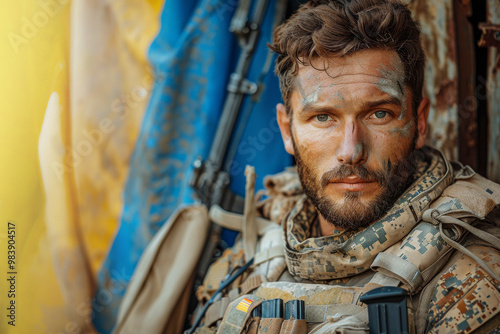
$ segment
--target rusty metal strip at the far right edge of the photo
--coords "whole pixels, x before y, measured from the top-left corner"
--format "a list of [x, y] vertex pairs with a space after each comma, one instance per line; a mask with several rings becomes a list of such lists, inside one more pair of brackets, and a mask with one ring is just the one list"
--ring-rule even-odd
[[[488, 0], [487, 21], [500, 24], [500, 1]], [[490, 47], [488, 52], [488, 178], [500, 182], [500, 48]]]

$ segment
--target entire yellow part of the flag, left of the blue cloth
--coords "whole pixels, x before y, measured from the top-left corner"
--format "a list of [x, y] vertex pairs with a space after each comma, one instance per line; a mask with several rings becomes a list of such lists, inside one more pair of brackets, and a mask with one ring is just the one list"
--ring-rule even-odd
[[[161, 7], [0, 2], [0, 273], [8, 221], [18, 273], [16, 326], [3, 312], [1, 333], [91, 332], [90, 298], [120, 219]], [[7, 291], [0, 280], [2, 308]]]

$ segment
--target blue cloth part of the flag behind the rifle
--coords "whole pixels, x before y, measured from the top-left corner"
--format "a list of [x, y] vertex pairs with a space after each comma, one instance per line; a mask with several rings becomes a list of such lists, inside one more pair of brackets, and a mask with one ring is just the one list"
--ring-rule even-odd
[[[281, 101], [277, 78], [262, 73], [271, 40], [275, 2], [270, 1], [249, 78], [262, 79], [257, 98], [245, 98], [241, 136], [230, 174], [231, 189], [244, 194], [245, 165], [255, 166], [257, 187], [265, 175], [291, 164], [275, 117]], [[157, 230], [181, 204], [194, 201], [189, 187], [192, 163], [207, 157], [234, 70], [239, 47], [228, 27], [235, 0], [167, 0], [161, 28], [149, 50], [155, 85], [132, 156], [118, 233], [98, 275], [93, 323], [110, 333], [120, 302], [139, 258]], [[244, 124], [242, 124], [244, 122]], [[172, 287], [175, 288], [175, 287]]]

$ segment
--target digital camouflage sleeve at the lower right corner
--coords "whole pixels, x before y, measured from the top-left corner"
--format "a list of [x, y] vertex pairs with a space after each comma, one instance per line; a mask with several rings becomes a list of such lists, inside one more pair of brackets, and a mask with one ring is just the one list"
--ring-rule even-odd
[[[500, 274], [500, 251], [467, 247]], [[438, 279], [427, 317], [426, 333], [500, 333], [497, 282], [472, 258], [462, 255]]]

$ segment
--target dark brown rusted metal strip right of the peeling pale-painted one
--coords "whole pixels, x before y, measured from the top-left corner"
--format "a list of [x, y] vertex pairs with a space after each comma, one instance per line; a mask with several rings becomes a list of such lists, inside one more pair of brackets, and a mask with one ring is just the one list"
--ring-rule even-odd
[[476, 59], [474, 33], [469, 23], [470, 1], [454, 1], [458, 67], [458, 159], [479, 170], [478, 101], [475, 96]]

